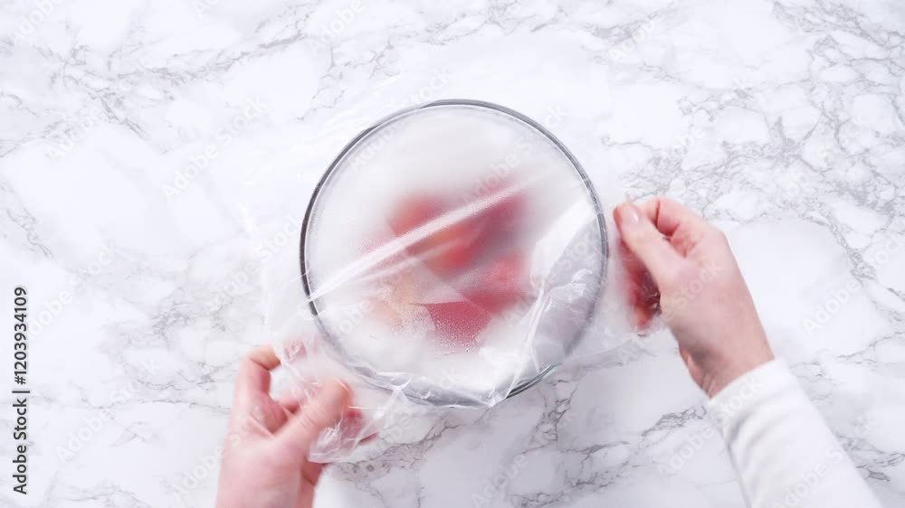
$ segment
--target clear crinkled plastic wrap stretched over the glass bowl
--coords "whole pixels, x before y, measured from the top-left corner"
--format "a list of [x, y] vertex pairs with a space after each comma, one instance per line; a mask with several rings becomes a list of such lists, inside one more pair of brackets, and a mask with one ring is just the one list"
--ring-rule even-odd
[[567, 148], [506, 108], [433, 102], [359, 134], [264, 279], [292, 393], [331, 378], [354, 393], [311, 459], [409, 415], [491, 407], [624, 342], [608, 216]]

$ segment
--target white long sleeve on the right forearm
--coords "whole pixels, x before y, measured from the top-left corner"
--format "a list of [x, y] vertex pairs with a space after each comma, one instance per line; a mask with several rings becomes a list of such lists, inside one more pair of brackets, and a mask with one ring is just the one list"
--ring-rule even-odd
[[748, 506], [880, 507], [786, 362], [748, 372], [709, 406]]

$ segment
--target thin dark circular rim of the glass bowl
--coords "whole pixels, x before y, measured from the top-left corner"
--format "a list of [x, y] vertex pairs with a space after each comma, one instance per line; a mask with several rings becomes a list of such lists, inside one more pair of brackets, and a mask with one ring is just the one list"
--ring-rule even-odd
[[[326, 339], [326, 342], [330, 344], [331, 348], [337, 353], [340, 359], [344, 364], [348, 365], [352, 370], [357, 372], [357, 374], [362, 377], [365, 381], [367, 381], [372, 386], [376, 388], [392, 391], [392, 390], [402, 390], [406, 397], [410, 400], [414, 400], [419, 403], [424, 403], [433, 406], [448, 406], [448, 407], [487, 407], [488, 404], [483, 400], [475, 400], [467, 397], [462, 397], [461, 394], [457, 394], [451, 390], [443, 390], [439, 388], [439, 386], [435, 383], [431, 384], [428, 393], [429, 396], [424, 396], [424, 390], [415, 390], [417, 386], [413, 388], [413, 383], [411, 380], [406, 382], [404, 385], [400, 386], [398, 384], [392, 382], [382, 382], [382, 379], [386, 379], [386, 376], [382, 376], [379, 372], [374, 369], [368, 367], [367, 365], [362, 364], [361, 362], [354, 361], [354, 356], [350, 355], [346, 352], [346, 349], [339, 343], [339, 341], [332, 336], [328, 327], [324, 325], [323, 320], [320, 319], [320, 313], [318, 306], [316, 304], [316, 298], [311, 298], [311, 286], [309, 279], [309, 269], [307, 263], [306, 256], [306, 247], [308, 245], [308, 233], [310, 231], [312, 216], [314, 214], [315, 208], [317, 206], [317, 202], [319, 197], [321, 196], [321, 191], [327, 186], [330, 178], [333, 174], [336, 174], [339, 166], [345, 160], [346, 156], [355, 149], [359, 143], [365, 139], [367, 136], [370, 136], [372, 133], [386, 127], [387, 125], [404, 118], [416, 111], [429, 109], [429, 108], [441, 108], [441, 107], [449, 107], [449, 106], [465, 106], [465, 107], [473, 107], [473, 108], [484, 108], [490, 109], [492, 111], [502, 113], [508, 115], [512, 118], [516, 118], [524, 124], [527, 124], [528, 127], [531, 127], [538, 131], [542, 136], [548, 138], [548, 140], [553, 143], [557, 149], [562, 152], [563, 155], [566, 155], [569, 164], [572, 166], [572, 169], [576, 172], [577, 176], [581, 180], [581, 182], [585, 185], [586, 193], [589, 196], [592, 205], [595, 209], [595, 215], [597, 219], [597, 229], [600, 232], [600, 252], [601, 252], [601, 271], [600, 271], [600, 284], [597, 287], [597, 292], [594, 297], [594, 302], [592, 305], [588, 307], [586, 322], [590, 323], [594, 320], [597, 314], [597, 307], [600, 304], [600, 299], [603, 297], [605, 292], [605, 282], [606, 282], [606, 272], [607, 272], [607, 263], [609, 259], [609, 249], [607, 244], [607, 229], [606, 229], [606, 221], [604, 218], [603, 206], [601, 205], [600, 199], [595, 192], [594, 185], [591, 183], [590, 178], [587, 176], [584, 167], [578, 162], [576, 156], [572, 154], [568, 150], [568, 148], [551, 133], [546, 127], [540, 125], [537, 121], [532, 118], [529, 118], [518, 111], [506, 108], [505, 106], [500, 106], [499, 104], [483, 101], [483, 100], [473, 100], [473, 99], [443, 99], [443, 100], [434, 100], [432, 102], [427, 102], [424, 104], [418, 104], [411, 106], [409, 108], [402, 108], [394, 113], [387, 115], [384, 118], [377, 120], [370, 127], [365, 128], [361, 132], [354, 136], [347, 144], [340, 150], [339, 154], [333, 159], [333, 162], [330, 163], [327, 170], [320, 177], [318, 183], [315, 184], [314, 190], [311, 193], [311, 197], [308, 203], [308, 207], [305, 210], [305, 216], [301, 223], [301, 231], [300, 231], [300, 242], [299, 242], [299, 263], [301, 270], [301, 285], [304, 290], [305, 300], [308, 302], [310, 307], [311, 315], [314, 317], [314, 320], [317, 322], [320, 334]], [[576, 343], [578, 343], [583, 335], [585, 334], [586, 328], [580, 328], [576, 333], [576, 336], [572, 337], [572, 340], [568, 343], [569, 346], [565, 351], [566, 356], [571, 353], [571, 350], [575, 348]], [[542, 369], [536, 375], [519, 380], [515, 384], [510, 387], [509, 393], [506, 395], [505, 399], [509, 399], [515, 395], [518, 395], [522, 391], [529, 390], [531, 387], [538, 384], [538, 382], [543, 381], [551, 372], [553, 372], [558, 362], [554, 362], [549, 364], [547, 367]], [[458, 396], [457, 396], [458, 395]]]

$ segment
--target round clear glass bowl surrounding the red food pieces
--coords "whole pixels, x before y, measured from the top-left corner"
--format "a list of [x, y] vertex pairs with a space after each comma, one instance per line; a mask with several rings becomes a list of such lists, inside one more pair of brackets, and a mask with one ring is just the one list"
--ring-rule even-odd
[[[484, 154], [493, 154], [486, 155], [488, 159], [500, 155], [505, 164], [488, 168], [482, 163], [462, 163], [469, 157], [479, 160]], [[481, 167], [472, 169], [471, 166]], [[469, 172], [473, 174], [460, 174]], [[394, 363], [398, 360], [396, 356], [404, 356], [398, 347], [381, 345], [383, 349], [370, 351], [371, 344], [363, 346], [356, 342], [360, 337], [354, 334], [365, 332], [354, 329], [367, 321], [365, 315], [371, 311], [367, 308], [350, 311], [350, 306], [332, 302], [339, 300], [334, 295], [340, 294], [348, 281], [366, 278], [368, 270], [376, 269], [375, 263], [383, 262], [377, 259], [368, 264], [357, 231], [377, 227], [381, 219], [375, 217], [380, 215], [376, 211], [392, 205], [398, 199], [397, 190], [405, 190], [406, 186], [422, 190], [432, 186], [444, 188], [447, 181], [454, 186], [458, 183], [453, 181], [472, 179], [472, 176], [479, 176], [473, 180], [481, 184], [496, 185], [495, 180], [516, 182], [528, 189], [525, 193], [531, 193], [532, 206], [543, 203], [531, 213], [540, 217], [538, 221], [545, 221], [546, 229], [538, 226], [543, 233], [538, 233], [537, 239], [520, 241], [537, 240], [536, 248], [531, 244], [531, 249], [535, 249], [532, 262], [537, 258], [547, 261], [543, 265], [546, 268], [541, 270], [543, 276], [538, 277], [542, 281], [538, 296], [526, 303], [528, 309], [524, 315], [513, 318], [518, 326], [512, 325], [513, 334], [516, 330], [519, 333], [529, 330], [542, 340], [532, 335], [513, 343], [511, 351], [502, 351], [504, 356], [512, 353], [516, 358], [511, 363], [494, 360], [493, 365], [504, 364], [507, 368], [516, 365], [510, 377], [504, 371], [499, 384], [466, 389], [464, 385], [472, 381], [469, 377], [473, 372], [458, 376], [443, 372], [438, 378], [428, 367], [419, 371], [420, 365], [415, 364], [414, 370], [406, 370]], [[481, 199], [473, 195], [472, 198], [463, 202]], [[544, 216], [548, 212], [550, 218]], [[569, 232], [573, 229], [574, 234]], [[586, 325], [595, 317], [603, 293], [607, 257], [601, 204], [576, 157], [531, 118], [489, 102], [464, 99], [439, 100], [403, 109], [355, 136], [315, 186], [300, 238], [305, 301], [333, 353], [368, 383], [401, 391], [409, 400], [434, 406], [486, 407], [543, 380], [574, 349]], [[548, 281], [556, 282], [548, 284]], [[338, 308], [342, 312], [335, 310]], [[537, 323], [526, 324], [529, 317]], [[355, 319], [357, 323], [348, 325]], [[384, 334], [372, 338], [380, 344], [396, 340]], [[488, 348], [482, 346], [480, 353]], [[452, 356], [452, 353], [437, 353], [438, 362]], [[522, 357], [529, 359], [523, 369], [518, 363]], [[462, 362], [472, 362], [469, 357], [462, 358], [466, 359]], [[480, 365], [474, 368], [481, 372]]]

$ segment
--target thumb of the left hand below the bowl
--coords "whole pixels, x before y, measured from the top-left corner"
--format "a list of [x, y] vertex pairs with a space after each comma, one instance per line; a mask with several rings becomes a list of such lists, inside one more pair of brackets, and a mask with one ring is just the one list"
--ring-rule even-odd
[[329, 381], [322, 385], [296, 416], [277, 431], [274, 440], [276, 453], [287, 454], [290, 462], [304, 464], [320, 432], [342, 419], [351, 397], [346, 385], [339, 381]]

